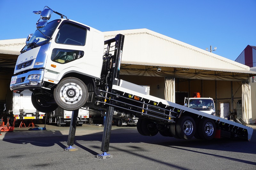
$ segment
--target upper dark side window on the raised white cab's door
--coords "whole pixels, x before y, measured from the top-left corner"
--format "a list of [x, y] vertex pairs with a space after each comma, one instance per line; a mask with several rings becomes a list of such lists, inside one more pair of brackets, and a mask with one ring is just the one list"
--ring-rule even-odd
[[84, 46], [85, 38], [85, 28], [65, 23], [60, 27], [60, 31], [58, 32], [55, 42], [58, 44]]

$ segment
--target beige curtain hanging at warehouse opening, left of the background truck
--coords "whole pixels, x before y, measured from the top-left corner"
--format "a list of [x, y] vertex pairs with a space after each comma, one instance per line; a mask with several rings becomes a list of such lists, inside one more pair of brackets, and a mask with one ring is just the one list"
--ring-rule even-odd
[[174, 78], [165, 78], [164, 87], [165, 100], [175, 103], [175, 81]]

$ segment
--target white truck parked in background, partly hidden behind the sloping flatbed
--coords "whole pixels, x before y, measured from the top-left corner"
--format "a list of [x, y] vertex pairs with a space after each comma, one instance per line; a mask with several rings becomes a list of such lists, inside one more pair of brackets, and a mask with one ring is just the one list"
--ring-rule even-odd
[[185, 98], [184, 106], [215, 116], [215, 106], [212, 98]]

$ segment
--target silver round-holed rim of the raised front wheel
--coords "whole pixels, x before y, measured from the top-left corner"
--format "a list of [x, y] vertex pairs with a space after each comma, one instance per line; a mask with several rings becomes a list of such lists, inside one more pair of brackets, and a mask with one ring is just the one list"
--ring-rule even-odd
[[81, 87], [75, 83], [66, 83], [60, 89], [60, 98], [67, 104], [76, 104], [82, 95]]

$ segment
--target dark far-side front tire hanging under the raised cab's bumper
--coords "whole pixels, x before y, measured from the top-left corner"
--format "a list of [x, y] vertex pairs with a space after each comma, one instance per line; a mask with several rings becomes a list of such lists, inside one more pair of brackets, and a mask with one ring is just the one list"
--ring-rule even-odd
[[31, 102], [39, 112], [49, 113], [57, 109], [57, 104], [48, 104], [44, 99], [38, 98], [32, 93]]

